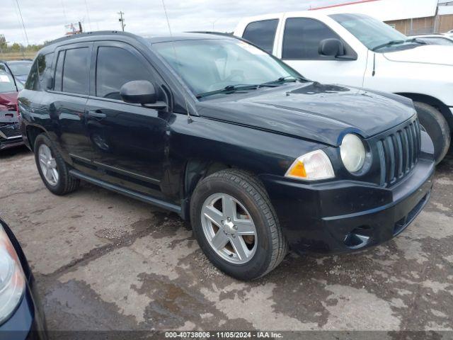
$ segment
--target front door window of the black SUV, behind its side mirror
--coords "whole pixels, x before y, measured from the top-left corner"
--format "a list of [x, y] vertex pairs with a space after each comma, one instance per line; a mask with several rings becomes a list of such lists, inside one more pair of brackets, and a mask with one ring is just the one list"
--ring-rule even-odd
[[96, 64], [96, 96], [121, 100], [121, 86], [128, 81], [152, 81], [147, 65], [121, 47], [99, 47]]

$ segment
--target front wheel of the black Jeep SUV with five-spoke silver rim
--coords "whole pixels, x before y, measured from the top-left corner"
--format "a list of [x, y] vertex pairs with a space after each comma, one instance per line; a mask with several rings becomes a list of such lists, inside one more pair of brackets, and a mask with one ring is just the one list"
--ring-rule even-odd
[[245, 171], [222, 170], [202, 179], [190, 200], [190, 220], [207, 258], [239, 280], [265, 275], [287, 254], [268, 194]]

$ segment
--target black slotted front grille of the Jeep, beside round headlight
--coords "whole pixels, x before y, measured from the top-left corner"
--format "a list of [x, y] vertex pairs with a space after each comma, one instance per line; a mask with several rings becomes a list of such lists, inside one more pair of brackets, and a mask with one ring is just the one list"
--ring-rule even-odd
[[420, 154], [420, 124], [414, 120], [377, 141], [381, 162], [381, 186], [403, 179], [417, 164]]

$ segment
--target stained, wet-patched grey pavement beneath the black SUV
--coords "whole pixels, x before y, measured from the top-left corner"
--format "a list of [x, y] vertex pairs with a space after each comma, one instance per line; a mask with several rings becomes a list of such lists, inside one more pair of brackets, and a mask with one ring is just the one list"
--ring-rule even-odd
[[25, 148], [0, 154], [0, 178], [0, 214], [51, 330], [453, 328], [452, 156], [396, 239], [357, 254], [289, 254], [252, 283], [217, 271], [177, 215], [86, 183], [53, 196]]

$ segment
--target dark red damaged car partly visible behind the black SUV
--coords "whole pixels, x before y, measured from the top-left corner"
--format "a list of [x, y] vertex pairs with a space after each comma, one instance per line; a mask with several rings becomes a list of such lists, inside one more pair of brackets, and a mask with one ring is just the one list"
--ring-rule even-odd
[[0, 150], [23, 145], [18, 125], [17, 95], [23, 85], [11, 70], [0, 62]]

